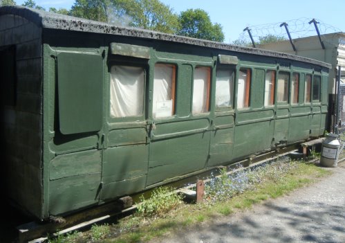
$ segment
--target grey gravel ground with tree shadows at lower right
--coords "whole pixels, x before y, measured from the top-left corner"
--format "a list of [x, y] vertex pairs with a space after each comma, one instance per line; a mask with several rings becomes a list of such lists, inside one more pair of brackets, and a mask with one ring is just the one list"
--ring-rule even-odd
[[168, 235], [158, 242], [345, 242], [345, 163], [333, 175], [251, 210]]

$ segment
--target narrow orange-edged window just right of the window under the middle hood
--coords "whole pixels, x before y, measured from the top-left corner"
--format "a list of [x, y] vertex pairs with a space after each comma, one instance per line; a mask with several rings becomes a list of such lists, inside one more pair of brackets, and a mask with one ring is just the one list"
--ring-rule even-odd
[[250, 69], [240, 69], [237, 83], [237, 109], [249, 107]]

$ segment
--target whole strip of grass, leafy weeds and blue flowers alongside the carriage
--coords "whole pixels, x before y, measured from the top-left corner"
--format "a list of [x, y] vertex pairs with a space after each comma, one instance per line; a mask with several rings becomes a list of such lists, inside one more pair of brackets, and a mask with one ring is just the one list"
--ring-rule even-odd
[[50, 242], [147, 242], [167, 232], [180, 231], [213, 218], [231, 215], [236, 210], [274, 199], [330, 174], [313, 163], [281, 159], [252, 170], [221, 169], [205, 184], [205, 203], [185, 204], [182, 197], [167, 187], [157, 188], [149, 199], [141, 197], [138, 212], [113, 224], [92, 226], [84, 233], [59, 236]]

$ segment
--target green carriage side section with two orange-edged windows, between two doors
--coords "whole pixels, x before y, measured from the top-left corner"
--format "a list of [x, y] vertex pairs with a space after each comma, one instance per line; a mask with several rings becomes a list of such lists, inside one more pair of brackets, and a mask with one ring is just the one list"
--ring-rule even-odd
[[209, 153], [211, 69], [196, 67], [193, 73], [191, 65], [183, 64], [178, 83], [174, 65], [156, 64], [154, 69], [147, 186], [203, 170]]

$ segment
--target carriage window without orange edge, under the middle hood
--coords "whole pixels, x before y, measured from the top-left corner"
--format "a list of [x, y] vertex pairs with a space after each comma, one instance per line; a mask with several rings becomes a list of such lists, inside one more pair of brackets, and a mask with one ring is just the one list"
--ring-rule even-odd
[[232, 84], [234, 71], [218, 69], [216, 71], [216, 107], [232, 106]]

